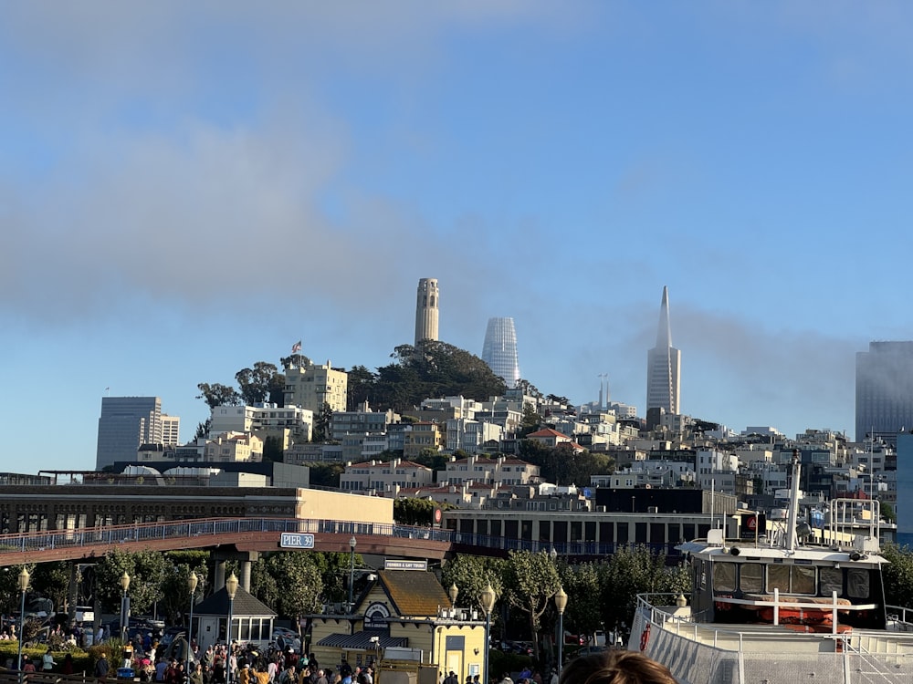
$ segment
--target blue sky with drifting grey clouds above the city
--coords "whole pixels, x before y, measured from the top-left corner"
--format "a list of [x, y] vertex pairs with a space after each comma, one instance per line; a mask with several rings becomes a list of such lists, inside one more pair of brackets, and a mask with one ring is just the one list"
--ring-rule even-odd
[[101, 398], [514, 318], [523, 378], [854, 432], [913, 338], [913, 5], [36, 0], [0, 8], [0, 470], [95, 464]]

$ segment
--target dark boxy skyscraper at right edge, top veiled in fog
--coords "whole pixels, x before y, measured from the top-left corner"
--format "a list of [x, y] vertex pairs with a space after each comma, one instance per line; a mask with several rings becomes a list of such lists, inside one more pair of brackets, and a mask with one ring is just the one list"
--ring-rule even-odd
[[856, 353], [856, 441], [895, 444], [913, 429], [913, 342], [870, 342]]

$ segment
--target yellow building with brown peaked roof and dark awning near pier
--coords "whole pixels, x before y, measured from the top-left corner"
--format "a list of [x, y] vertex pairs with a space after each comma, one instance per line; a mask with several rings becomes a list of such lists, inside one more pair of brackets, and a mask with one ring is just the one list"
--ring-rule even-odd
[[485, 616], [477, 607], [455, 608], [430, 572], [378, 571], [351, 613], [310, 617], [310, 651], [321, 664], [413, 660], [445, 676], [453, 670], [460, 682], [485, 679]]

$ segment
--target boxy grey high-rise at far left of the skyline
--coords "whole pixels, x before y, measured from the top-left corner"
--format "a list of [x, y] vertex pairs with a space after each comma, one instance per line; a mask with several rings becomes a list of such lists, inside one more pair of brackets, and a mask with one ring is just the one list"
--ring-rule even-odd
[[95, 469], [114, 461], [136, 461], [141, 444], [162, 443], [162, 399], [102, 397]]

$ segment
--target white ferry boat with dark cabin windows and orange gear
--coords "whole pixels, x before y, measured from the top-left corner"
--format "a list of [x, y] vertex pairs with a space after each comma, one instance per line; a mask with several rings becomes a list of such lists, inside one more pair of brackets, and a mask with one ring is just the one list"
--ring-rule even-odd
[[750, 543], [711, 530], [679, 547], [690, 600], [639, 596], [628, 648], [682, 684], [913, 682], [913, 611], [885, 602], [878, 503], [832, 502], [819, 544], [803, 544], [799, 471], [793, 452], [781, 527]]

